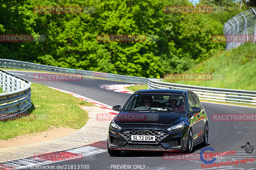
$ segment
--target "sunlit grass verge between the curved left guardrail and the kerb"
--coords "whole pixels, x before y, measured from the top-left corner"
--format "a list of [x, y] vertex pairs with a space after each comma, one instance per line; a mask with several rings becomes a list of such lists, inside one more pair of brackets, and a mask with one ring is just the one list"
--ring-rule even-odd
[[94, 106], [70, 94], [59, 92], [45, 85], [31, 85], [31, 100], [35, 114], [34, 121], [0, 121], [0, 139], [10, 139], [19, 135], [36, 133], [52, 127], [82, 128], [87, 120], [87, 112], [79, 106]]

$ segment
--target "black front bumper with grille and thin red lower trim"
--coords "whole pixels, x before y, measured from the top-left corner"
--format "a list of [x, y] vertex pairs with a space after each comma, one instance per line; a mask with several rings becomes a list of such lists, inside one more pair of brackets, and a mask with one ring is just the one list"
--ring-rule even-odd
[[[182, 131], [169, 132], [161, 129], [143, 129], [147, 130], [148, 134], [156, 136], [154, 142], [144, 141], [132, 141], [131, 135], [142, 135], [139, 131], [142, 129], [123, 129], [116, 131], [109, 129], [108, 134], [108, 148], [111, 150], [121, 151], [185, 151], [182, 137], [184, 133]], [[127, 133], [128, 132], [128, 133]], [[187, 138], [186, 138], [187, 139]], [[186, 146], [186, 143], [185, 143]]]

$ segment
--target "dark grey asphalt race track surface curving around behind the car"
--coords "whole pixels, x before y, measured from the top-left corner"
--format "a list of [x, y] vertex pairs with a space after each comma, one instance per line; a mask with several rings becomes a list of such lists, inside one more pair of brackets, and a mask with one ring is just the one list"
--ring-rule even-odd
[[[11, 72], [11, 71], [10, 71]], [[110, 90], [102, 89], [99, 86], [105, 84], [127, 84], [124, 82], [100, 80], [100, 79], [87, 79], [85, 81], [34, 81], [33, 74], [28, 72], [12, 72], [22, 78], [27, 79], [30, 82], [35, 82], [51, 87], [59, 88], [69, 92], [74, 92], [82, 96], [88, 97], [93, 100], [100, 101], [104, 104], [114, 106], [123, 106], [125, 101], [131, 94], [113, 92]], [[32, 101], [33, 102], [33, 101]], [[222, 156], [215, 160], [214, 163], [242, 160], [247, 158], [256, 158], [256, 124], [255, 121], [228, 121], [228, 122], [214, 122], [211, 120], [212, 114], [227, 114], [227, 113], [240, 113], [240, 114], [256, 114], [256, 108], [252, 107], [238, 107], [228, 106], [221, 104], [205, 103], [202, 102], [205, 107], [205, 111], [208, 116], [209, 123], [209, 145], [208, 147], [214, 148], [218, 152], [236, 151], [236, 154]], [[106, 129], [107, 131], [108, 129]], [[254, 146], [254, 150], [251, 154], [246, 153], [241, 148], [242, 145], [250, 142]], [[194, 153], [200, 153], [203, 149], [201, 146], [193, 147]], [[207, 150], [205, 152], [210, 152]], [[164, 160], [163, 153], [159, 152], [122, 152], [118, 157], [111, 157], [108, 152], [103, 152], [94, 155], [94, 159], [86, 159], [80, 161], [62, 161], [48, 164], [49, 166], [55, 166], [53, 169], [60, 169], [57, 166], [64, 166], [62, 169], [81, 169], [81, 166], [89, 165], [89, 169], [101, 170], [101, 169], [202, 169], [199, 160]], [[213, 164], [214, 164], [213, 163]], [[71, 168], [71, 165], [72, 168]], [[75, 166], [76, 165], [76, 166]], [[80, 167], [78, 168], [78, 165]], [[118, 165], [118, 166], [117, 166]], [[125, 166], [124, 166], [125, 165]], [[128, 165], [128, 166], [126, 166]], [[131, 166], [130, 166], [131, 165]], [[48, 167], [49, 167], [48, 166]], [[47, 168], [47, 167], [46, 167]], [[45, 169], [46, 169], [45, 168]], [[41, 168], [42, 169], [42, 168]], [[85, 168], [82, 168], [85, 169]], [[252, 170], [256, 169], [256, 162], [251, 163], [238, 163], [237, 165], [225, 165], [221, 167], [208, 167], [203, 169], [237, 169], [237, 170]]]

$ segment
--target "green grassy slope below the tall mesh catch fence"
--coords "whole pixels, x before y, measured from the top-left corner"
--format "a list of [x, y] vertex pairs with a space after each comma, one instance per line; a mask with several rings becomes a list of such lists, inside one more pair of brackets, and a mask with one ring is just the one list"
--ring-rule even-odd
[[186, 73], [225, 74], [224, 80], [166, 81], [170, 83], [256, 90], [256, 45], [247, 43], [238, 48], [222, 51], [199, 63]]

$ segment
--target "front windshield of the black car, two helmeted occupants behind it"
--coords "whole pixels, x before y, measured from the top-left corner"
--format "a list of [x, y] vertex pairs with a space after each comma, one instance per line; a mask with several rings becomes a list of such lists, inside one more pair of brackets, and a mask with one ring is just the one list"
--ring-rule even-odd
[[184, 99], [184, 95], [177, 94], [134, 94], [124, 111], [185, 112]]

